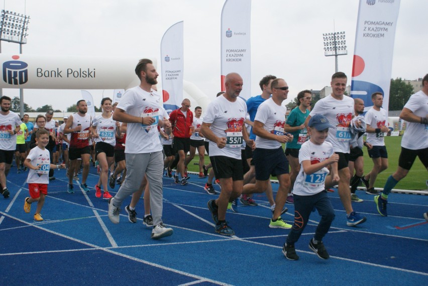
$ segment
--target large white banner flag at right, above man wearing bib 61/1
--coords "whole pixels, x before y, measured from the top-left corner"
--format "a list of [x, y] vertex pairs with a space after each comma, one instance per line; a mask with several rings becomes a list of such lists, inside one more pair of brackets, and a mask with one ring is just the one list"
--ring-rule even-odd
[[367, 111], [373, 106], [371, 95], [383, 93], [388, 111], [392, 54], [400, 0], [360, 0], [351, 97], [364, 100]]

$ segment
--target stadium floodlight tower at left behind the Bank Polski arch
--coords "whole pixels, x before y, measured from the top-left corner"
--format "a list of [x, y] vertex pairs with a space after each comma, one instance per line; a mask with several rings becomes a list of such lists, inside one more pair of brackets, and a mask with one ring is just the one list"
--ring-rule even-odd
[[[19, 44], [19, 53], [22, 54], [22, 45], [27, 44], [27, 30], [30, 16], [16, 12], [2, 10], [0, 16], [0, 53], [2, 41]], [[3, 91], [0, 88], [0, 96]], [[24, 91], [20, 89], [20, 115], [24, 116]]]

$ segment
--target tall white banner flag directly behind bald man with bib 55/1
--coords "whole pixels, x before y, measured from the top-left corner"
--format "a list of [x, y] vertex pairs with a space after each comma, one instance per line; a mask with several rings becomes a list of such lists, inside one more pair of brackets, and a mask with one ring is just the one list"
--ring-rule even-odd
[[225, 77], [236, 72], [244, 80], [240, 96], [251, 97], [251, 0], [226, 0], [222, 11], [222, 90]]

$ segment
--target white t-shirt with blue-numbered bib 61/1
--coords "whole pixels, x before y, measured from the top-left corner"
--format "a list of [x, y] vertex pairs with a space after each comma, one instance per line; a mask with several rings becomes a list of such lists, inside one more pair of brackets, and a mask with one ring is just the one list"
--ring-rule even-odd
[[333, 98], [330, 94], [315, 103], [309, 115], [323, 114], [336, 128], [329, 128], [327, 141], [333, 145], [335, 152], [349, 153], [352, 135], [350, 124], [354, 113], [354, 99], [346, 95], [342, 100]]

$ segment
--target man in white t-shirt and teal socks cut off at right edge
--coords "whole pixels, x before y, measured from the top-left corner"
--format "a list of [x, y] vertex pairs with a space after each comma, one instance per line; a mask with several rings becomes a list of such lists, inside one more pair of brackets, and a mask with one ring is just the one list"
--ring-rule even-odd
[[400, 118], [408, 124], [401, 139], [398, 168], [386, 180], [382, 193], [374, 197], [377, 211], [382, 216], [387, 216], [386, 204], [389, 193], [407, 176], [416, 156], [428, 171], [428, 74], [422, 79], [422, 90], [410, 96], [404, 105]]

